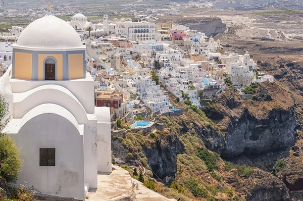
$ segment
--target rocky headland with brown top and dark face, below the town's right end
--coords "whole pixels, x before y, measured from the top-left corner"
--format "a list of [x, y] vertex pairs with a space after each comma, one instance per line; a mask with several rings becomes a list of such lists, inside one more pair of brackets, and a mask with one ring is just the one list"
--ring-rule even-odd
[[233, 92], [220, 95], [205, 112], [213, 119], [216, 110], [218, 114], [224, 114], [222, 119], [214, 119], [221, 132], [197, 126], [198, 136], [206, 147], [226, 158], [290, 147], [296, 139], [295, 106], [291, 94], [281, 89], [276, 84], [261, 86], [248, 101], [241, 100]]

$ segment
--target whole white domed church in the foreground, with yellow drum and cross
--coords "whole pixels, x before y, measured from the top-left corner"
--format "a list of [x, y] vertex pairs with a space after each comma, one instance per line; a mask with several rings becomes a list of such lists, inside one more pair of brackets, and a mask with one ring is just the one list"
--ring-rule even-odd
[[49, 5], [47, 15], [22, 31], [0, 77], [12, 115], [5, 132], [24, 161], [17, 185], [84, 200], [97, 188], [97, 172], [112, 171], [110, 110], [94, 107], [86, 46], [50, 11]]

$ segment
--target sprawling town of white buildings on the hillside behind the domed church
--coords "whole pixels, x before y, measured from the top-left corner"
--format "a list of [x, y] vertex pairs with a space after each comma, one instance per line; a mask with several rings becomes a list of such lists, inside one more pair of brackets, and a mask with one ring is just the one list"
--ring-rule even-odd
[[[75, 14], [72, 26], [86, 45], [86, 70], [95, 87], [95, 106], [109, 107], [111, 121], [142, 111], [165, 114], [176, 110], [169, 93], [188, 105], [224, 92], [225, 79], [239, 93], [251, 83], [273, 82], [273, 76], [258, 72], [246, 52], [235, 54], [228, 44], [212, 36], [172, 23], [146, 18], [88, 22]], [[10, 39], [18, 39], [22, 27], [12, 27]], [[12, 62], [14, 41], [0, 42], [1, 75]]]

